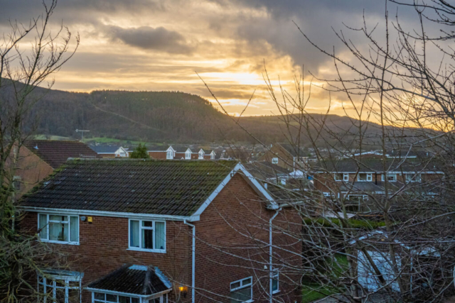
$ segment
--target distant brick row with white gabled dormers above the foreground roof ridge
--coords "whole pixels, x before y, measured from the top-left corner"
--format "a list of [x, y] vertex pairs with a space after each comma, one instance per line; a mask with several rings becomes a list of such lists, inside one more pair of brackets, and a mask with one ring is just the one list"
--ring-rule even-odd
[[148, 147], [147, 153], [149, 153], [152, 159], [161, 160], [215, 160], [215, 151], [204, 150], [202, 147], [186, 145], [158, 145]]

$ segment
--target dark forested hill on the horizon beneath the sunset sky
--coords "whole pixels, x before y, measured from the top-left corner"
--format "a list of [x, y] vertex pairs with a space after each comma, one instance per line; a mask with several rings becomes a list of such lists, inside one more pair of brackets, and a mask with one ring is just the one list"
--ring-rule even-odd
[[[8, 89], [3, 88], [6, 96]], [[222, 141], [254, 142], [232, 119], [197, 95], [183, 92], [94, 91], [91, 93], [36, 89], [40, 101], [31, 110], [28, 126], [36, 121], [41, 135], [79, 138], [76, 129], [88, 129], [91, 137], [130, 141], [208, 143]], [[311, 114], [314, 119], [322, 115]], [[287, 139], [282, 117], [242, 117], [240, 124], [264, 143]], [[331, 115], [333, 131], [353, 129], [346, 116]], [[370, 123], [370, 132], [378, 133]]]

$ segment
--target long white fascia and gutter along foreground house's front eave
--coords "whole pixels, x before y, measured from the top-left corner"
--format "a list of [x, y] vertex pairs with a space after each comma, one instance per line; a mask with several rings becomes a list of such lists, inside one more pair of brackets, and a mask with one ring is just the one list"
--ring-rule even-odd
[[47, 207], [30, 207], [30, 206], [18, 206], [23, 211], [43, 212], [46, 214], [67, 214], [71, 215], [85, 215], [89, 216], [112, 216], [118, 218], [129, 218], [129, 219], [151, 219], [151, 220], [166, 220], [166, 221], [199, 221], [199, 216], [171, 216], [166, 214], [137, 214], [117, 211], [92, 211], [90, 209], [53, 209]]

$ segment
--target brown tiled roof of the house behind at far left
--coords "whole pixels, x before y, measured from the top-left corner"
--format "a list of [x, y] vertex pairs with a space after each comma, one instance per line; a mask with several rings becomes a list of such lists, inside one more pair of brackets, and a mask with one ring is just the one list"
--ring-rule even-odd
[[53, 168], [60, 167], [68, 158], [99, 158], [79, 141], [29, 140], [23, 145]]

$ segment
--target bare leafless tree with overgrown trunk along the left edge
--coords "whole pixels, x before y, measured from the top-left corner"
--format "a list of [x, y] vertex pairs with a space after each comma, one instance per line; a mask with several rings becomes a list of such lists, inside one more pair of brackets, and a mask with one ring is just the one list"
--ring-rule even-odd
[[[36, 294], [28, 277], [50, 262], [50, 248], [15, 229], [20, 214], [16, 209], [14, 176], [21, 145], [33, 134], [29, 115], [52, 87], [50, 77], [77, 50], [63, 25], [52, 28], [50, 18], [56, 0], [43, 1], [44, 12], [28, 24], [10, 22], [11, 31], [0, 39], [0, 301], [18, 302]], [[23, 45], [30, 45], [24, 48]], [[40, 88], [43, 87], [46, 88]], [[55, 258], [53, 258], [55, 261]]]

